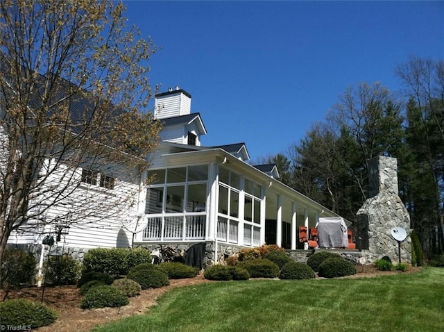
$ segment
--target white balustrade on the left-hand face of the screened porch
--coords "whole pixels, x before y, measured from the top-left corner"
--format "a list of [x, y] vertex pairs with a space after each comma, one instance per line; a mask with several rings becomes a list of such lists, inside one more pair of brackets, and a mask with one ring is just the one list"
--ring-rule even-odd
[[205, 239], [205, 215], [148, 217], [146, 223], [142, 240]]

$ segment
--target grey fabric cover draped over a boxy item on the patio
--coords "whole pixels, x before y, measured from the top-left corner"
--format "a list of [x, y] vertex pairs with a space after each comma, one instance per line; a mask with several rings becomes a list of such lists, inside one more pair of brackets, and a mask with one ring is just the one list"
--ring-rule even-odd
[[348, 247], [347, 224], [345, 224], [343, 218], [319, 218], [318, 246], [320, 248]]

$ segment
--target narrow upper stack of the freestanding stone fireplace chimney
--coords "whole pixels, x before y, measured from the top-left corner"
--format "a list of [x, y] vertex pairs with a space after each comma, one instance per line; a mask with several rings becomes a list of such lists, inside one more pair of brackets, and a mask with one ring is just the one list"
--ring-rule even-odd
[[398, 162], [396, 158], [377, 156], [368, 160], [368, 197], [392, 190], [398, 194]]

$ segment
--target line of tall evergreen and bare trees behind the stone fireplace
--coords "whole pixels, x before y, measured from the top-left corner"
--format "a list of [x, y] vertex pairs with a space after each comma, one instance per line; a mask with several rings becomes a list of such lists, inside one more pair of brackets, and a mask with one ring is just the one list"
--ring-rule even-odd
[[281, 181], [354, 222], [368, 199], [368, 160], [398, 159], [399, 195], [428, 256], [444, 249], [444, 60], [395, 68], [400, 92], [381, 83], [345, 89], [325, 121], [271, 157]]

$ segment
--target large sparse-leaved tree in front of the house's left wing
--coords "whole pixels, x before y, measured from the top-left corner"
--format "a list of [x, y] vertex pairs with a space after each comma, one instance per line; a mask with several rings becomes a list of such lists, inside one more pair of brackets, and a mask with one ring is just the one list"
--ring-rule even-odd
[[140, 111], [156, 49], [123, 11], [110, 0], [0, 1], [0, 262], [11, 233], [112, 227], [137, 210], [160, 131]]

